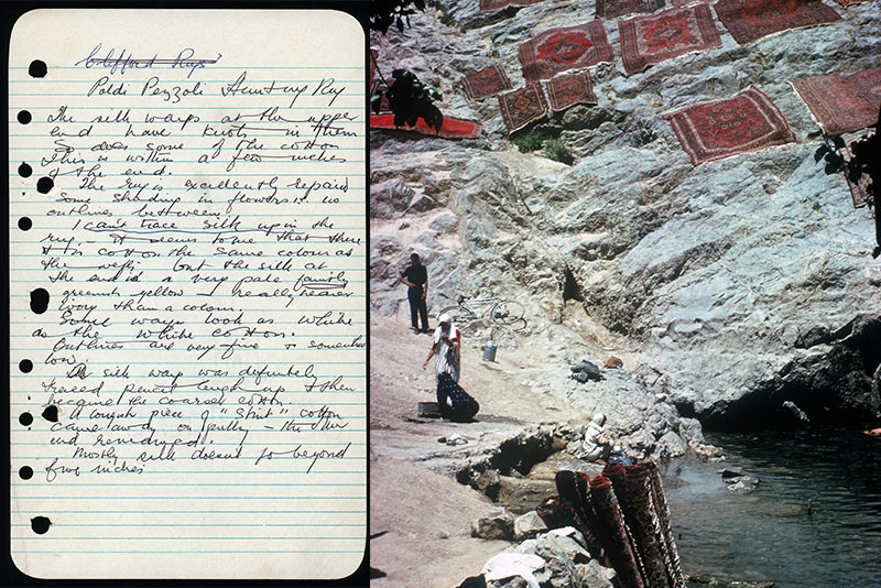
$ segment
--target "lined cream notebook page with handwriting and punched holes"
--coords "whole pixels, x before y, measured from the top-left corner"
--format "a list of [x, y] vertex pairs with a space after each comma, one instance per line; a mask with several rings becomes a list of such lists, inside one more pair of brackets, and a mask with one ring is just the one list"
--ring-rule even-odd
[[337, 578], [366, 548], [363, 31], [12, 33], [11, 551], [41, 578]]

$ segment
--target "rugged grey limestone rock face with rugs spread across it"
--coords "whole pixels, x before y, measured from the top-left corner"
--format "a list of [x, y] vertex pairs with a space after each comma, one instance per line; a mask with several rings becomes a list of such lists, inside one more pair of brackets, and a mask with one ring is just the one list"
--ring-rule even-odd
[[[621, 406], [620, 433], [650, 453], [699, 443], [699, 429], [678, 424], [673, 406], [730, 429], [879, 410], [873, 219], [852, 207], [842, 175], [815, 163], [819, 128], [788, 84], [879, 65], [875, 2], [829, 2], [840, 22], [747, 45], [716, 21], [720, 47], [632, 76], [624, 75], [616, 23], [605, 22], [616, 61], [590, 68], [599, 104], [541, 123], [567, 145], [573, 165], [520, 153], [498, 101], [469, 100], [457, 81], [494, 63], [522, 87], [519, 44], [592, 20], [595, 2], [548, 0], [494, 13], [479, 12], [477, 0], [434, 4], [403, 33], [371, 39], [379, 66], [387, 76], [410, 68], [438, 86], [445, 113], [483, 128], [463, 141], [372, 134], [373, 312], [406, 312], [395, 281], [416, 251], [432, 276], [431, 308], [458, 294], [523, 302], [530, 323], [511, 339], [556, 356], [563, 377], [565, 361], [587, 351], [605, 358], [614, 347], [633, 378], [618, 383], [644, 396]], [[453, 24], [442, 24], [442, 13]], [[797, 141], [692, 165], [662, 115], [751, 85], [780, 108]], [[535, 378], [536, 386], [578, 394], [572, 384], [557, 371]], [[662, 410], [644, 410], [655, 394], [667, 399]], [[656, 427], [630, 431], [649, 413]]]

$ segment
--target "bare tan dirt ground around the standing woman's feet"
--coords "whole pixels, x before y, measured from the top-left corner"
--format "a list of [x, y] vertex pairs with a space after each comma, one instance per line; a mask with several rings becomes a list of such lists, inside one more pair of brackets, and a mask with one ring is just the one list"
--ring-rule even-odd
[[[480, 341], [464, 337], [461, 385], [480, 402], [478, 422], [418, 418], [417, 402], [433, 402], [434, 371], [422, 371], [431, 338], [409, 324], [373, 317], [370, 324], [370, 565], [385, 576], [377, 588], [453, 588], [478, 574], [509, 544], [470, 536], [470, 522], [492, 503], [453, 478], [457, 456], [493, 447], [499, 435], [542, 422], [584, 422], [558, 398], [522, 381], [546, 369], [542, 350], [520, 345], [481, 360]], [[438, 443], [460, 434], [464, 446]]]

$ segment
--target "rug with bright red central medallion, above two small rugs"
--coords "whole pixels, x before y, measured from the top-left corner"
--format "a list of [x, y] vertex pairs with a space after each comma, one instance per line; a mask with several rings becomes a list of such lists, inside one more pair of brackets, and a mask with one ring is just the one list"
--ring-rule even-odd
[[548, 29], [520, 45], [520, 63], [527, 83], [551, 79], [567, 69], [614, 61], [602, 22], [596, 19], [574, 26]]

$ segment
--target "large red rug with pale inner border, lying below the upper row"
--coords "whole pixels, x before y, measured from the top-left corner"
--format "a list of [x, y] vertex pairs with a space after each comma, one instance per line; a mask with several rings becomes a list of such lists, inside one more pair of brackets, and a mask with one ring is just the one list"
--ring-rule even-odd
[[693, 105], [663, 117], [694, 165], [795, 142], [783, 113], [752, 86], [733, 98]]

